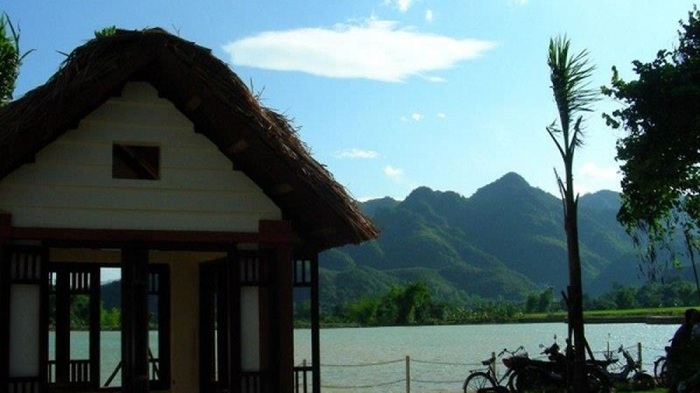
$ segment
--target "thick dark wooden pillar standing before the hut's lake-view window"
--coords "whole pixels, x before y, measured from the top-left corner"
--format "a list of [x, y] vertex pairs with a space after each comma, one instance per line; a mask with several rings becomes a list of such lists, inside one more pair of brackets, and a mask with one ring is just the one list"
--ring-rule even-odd
[[148, 393], [148, 249], [122, 249], [122, 392]]

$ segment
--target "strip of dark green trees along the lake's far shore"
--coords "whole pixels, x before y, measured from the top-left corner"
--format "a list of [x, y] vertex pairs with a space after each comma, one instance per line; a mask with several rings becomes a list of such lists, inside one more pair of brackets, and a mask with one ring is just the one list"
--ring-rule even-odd
[[[522, 302], [471, 298], [464, 306], [441, 302], [431, 286], [416, 282], [393, 286], [387, 291], [362, 296], [322, 313], [322, 322], [353, 326], [453, 325], [465, 323], [518, 322], [525, 314], [560, 313], [562, 299], [553, 288], [532, 292]], [[584, 297], [586, 310], [625, 310], [635, 308], [685, 307], [695, 305], [693, 286], [684, 280], [666, 284], [650, 282], [641, 287], [616, 284], [599, 297]], [[308, 320], [304, 308], [297, 309], [296, 320]]]

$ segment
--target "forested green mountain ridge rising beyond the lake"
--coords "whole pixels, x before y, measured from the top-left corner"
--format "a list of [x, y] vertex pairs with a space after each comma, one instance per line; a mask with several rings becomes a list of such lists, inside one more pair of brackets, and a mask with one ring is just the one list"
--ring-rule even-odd
[[[613, 283], [638, 284], [638, 254], [616, 220], [619, 194], [581, 196], [579, 235], [584, 291], [596, 296]], [[423, 281], [437, 299], [522, 300], [568, 282], [561, 201], [508, 173], [471, 197], [414, 190], [405, 200], [361, 204], [381, 236], [324, 252], [321, 302], [329, 307]]]

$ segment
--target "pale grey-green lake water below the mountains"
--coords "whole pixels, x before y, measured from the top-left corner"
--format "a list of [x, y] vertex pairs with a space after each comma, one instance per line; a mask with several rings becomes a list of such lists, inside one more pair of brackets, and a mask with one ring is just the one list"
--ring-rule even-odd
[[[677, 325], [595, 324], [586, 326], [586, 337], [596, 356], [620, 345], [637, 356], [642, 344], [644, 368], [653, 373], [653, 362]], [[85, 332], [74, 332], [71, 352], [86, 353]], [[119, 362], [119, 332], [103, 332], [102, 382]], [[406, 392], [406, 357], [409, 357], [412, 392], [460, 392], [470, 370], [492, 352], [524, 346], [531, 357], [540, 356], [540, 344], [554, 337], [563, 346], [565, 323], [346, 328], [321, 330], [321, 385], [332, 393]], [[311, 359], [311, 331], [295, 331], [295, 364]], [[53, 337], [50, 337], [50, 347]], [[151, 342], [157, 342], [155, 334]], [[151, 348], [154, 356], [157, 348]], [[118, 378], [115, 383], [118, 383]]]

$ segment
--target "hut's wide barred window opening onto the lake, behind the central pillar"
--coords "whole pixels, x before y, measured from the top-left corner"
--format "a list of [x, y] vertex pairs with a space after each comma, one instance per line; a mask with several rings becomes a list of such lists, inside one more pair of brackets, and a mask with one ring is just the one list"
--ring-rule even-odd
[[[170, 381], [169, 271], [149, 265], [149, 379]], [[94, 391], [121, 386], [121, 269], [96, 263], [49, 264], [48, 383], [50, 388]]]

